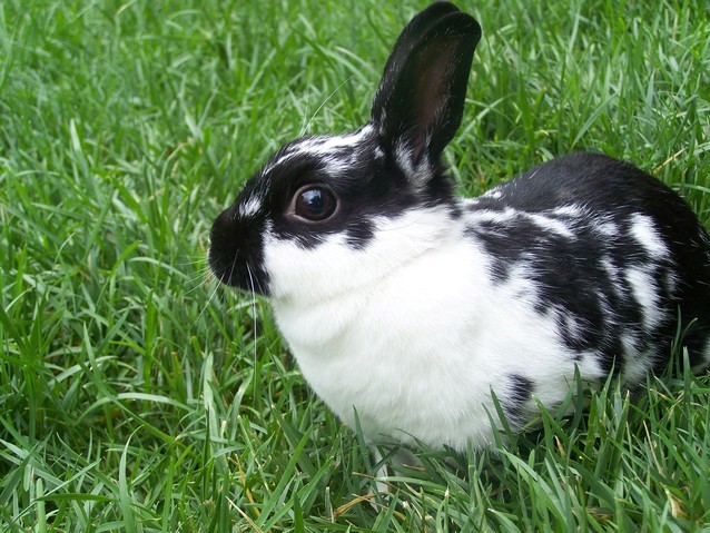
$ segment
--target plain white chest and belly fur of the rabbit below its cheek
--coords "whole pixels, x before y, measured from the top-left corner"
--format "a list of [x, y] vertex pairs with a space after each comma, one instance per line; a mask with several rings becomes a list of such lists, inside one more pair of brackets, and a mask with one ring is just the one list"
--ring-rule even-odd
[[356, 290], [310, 305], [277, 298], [274, 312], [307, 382], [346, 423], [356, 412], [369, 440], [484, 445], [491, 389], [505, 402], [511, 376], [525, 376], [554, 404], [574, 374], [530, 285], [493, 286], [484, 257], [454, 236]]

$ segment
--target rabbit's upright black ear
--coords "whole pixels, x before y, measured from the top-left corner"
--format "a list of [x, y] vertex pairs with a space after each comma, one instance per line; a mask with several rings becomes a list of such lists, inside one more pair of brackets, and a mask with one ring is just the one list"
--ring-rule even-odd
[[481, 27], [455, 6], [438, 2], [406, 26], [373, 99], [372, 120], [401, 165], [434, 164], [463, 115]]

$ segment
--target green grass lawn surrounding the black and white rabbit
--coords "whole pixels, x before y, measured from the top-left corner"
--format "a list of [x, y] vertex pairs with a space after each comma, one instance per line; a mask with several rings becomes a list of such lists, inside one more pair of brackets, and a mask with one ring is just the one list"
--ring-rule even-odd
[[[707, 2], [461, 3], [484, 30], [463, 191], [591, 149], [708, 223]], [[208, 279], [214, 216], [280, 142], [366, 119], [421, 7], [0, 4], [0, 531], [710, 531], [707, 374], [422, 452], [371, 505], [376, 465], [266, 304]]]

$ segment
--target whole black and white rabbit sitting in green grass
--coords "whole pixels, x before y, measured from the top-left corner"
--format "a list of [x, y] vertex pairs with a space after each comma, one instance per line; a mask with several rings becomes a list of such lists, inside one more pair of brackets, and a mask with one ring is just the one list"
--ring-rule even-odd
[[465, 450], [553, 408], [579, 369], [633, 386], [686, 332], [710, 362], [710, 240], [671, 189], [601, 155], [458, 198], [442, 151], [481, 29], [451, 3], [400, 36], [359, 129], [294, 140], [214, 223], [224, 284], [270, 299], [314, 391], [372, 441]]

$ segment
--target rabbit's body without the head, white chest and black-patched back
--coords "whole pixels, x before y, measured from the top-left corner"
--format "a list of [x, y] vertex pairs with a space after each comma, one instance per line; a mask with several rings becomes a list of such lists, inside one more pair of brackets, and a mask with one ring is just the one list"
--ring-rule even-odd
[[[627, 190], [604, 193], [619, 175]], [[672, 226], [645, 211], [647, 190], [668, 204]], [[333, 263], [339, 244], [327, 239], [303, 257], [292, 250], [282, 266], [267, 253], [268, 272], [298, 287], [272, 304], [304, 376], [342, 420], [354, 425], [356, 407], [375, 440], [465, 450], [493, 438], [491, 391], [520, 427], [535, 401], [553, 408], [564, 399], [575, 368], [592, 386], [611, 372], [634, 386], [667, 366], [683, 294], [710, 302], [707, 237], [689, 213], [634, 167], [570, 156], [462, 198], [457, 209], [383, 218], [361, 251], [383, 258], [376, 277], [351, 259]], [[704, 261], [704, 283], [693, 283], [697, 273], [676, 265], [665, 244], [689, 231], [697, 246], [687, 253], [692, 265]], [[293, 265], [305, 263], [309, 275], [292, 278], [302, 272]], [[368, 275], [358, 276], [361, 268]], [[707, 317], [693, 330], [686, 344], [702, 366]]]

